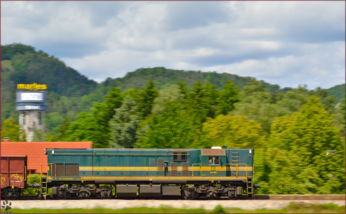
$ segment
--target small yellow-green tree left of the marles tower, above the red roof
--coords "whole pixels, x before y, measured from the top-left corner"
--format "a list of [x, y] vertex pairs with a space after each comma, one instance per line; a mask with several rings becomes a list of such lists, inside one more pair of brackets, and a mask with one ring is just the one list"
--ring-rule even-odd
[[1, 126], [1, 141], [4, 137], [9, 137], [10, 142], [25, 142], [25, 131], [20, 128], [20, 125], [16, 121], [9, 117]]

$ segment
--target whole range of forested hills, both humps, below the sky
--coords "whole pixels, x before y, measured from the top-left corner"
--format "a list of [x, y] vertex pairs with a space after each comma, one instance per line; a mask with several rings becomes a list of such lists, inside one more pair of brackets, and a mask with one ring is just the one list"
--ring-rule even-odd
[[[78, 71], [68, 67], [54, 56], [24, 44], [1, 45], [1, 123], [8, 117], [18, 122], [15, 110], [15, 92], [17, 84], [46, 84], [48, 86], [47, 125], [50, 130], [61, 124], [61, 118], [50, 123], [50, 113], [75, 120], [80, 112], [90, 112], [93, 102], [102, 102], [103, 96], [111, 87], [120, 87], [121, 91], [130, 88], [144, 87], [153, 79], [157, 89], [163, 89], [180, 81], [191, 90], [196, 80], [202, 84], [209, 81], [221, 89], [227, 80], [242, 89], [251, 77], [216, 72], [182, 71], [165, 68], [137, 69], [123, 78], [107, 78], [103, 83], [86, 78]], [[279, 86], [261, 81], [261, 87], [277, 92]], [[283, 89], [286, 90], [286, 89]]]

